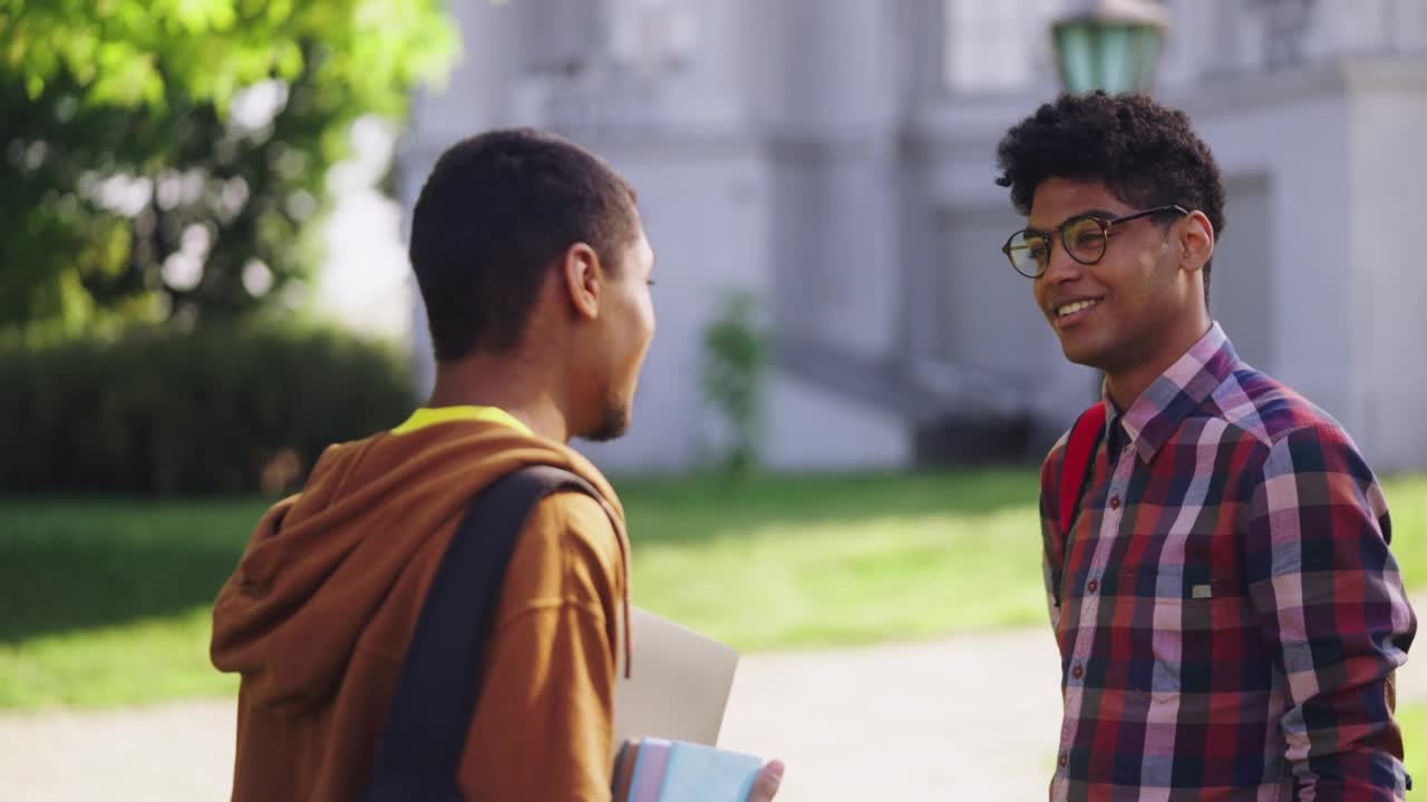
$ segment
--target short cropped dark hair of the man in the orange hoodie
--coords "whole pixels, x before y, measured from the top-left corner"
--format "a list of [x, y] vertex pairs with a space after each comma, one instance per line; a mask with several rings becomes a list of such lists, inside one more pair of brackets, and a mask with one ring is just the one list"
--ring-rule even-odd
[[437, 361], [514, 350], [561, 254], [585, 243], [618, 271], [636, 235], [634, 190], [579, 146], [529, 128], [457, 143], [411, 218], [411, 267]]

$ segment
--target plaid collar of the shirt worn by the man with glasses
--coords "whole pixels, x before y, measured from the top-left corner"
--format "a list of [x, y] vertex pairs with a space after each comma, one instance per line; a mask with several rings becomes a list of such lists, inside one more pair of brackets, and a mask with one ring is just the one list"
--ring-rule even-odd
[[1197, 410], [1239, 364], [1234, 347], [1216, 323], [1199, 342], [1156, 378], [1130, 408], [1120, 412], [1110, 400], [1109, 387], [1102, 390], [1107, 410], [1106, 431], [1120, 424], [1140, 460], [1149, 462], [1169, 441], [1179, 424]]

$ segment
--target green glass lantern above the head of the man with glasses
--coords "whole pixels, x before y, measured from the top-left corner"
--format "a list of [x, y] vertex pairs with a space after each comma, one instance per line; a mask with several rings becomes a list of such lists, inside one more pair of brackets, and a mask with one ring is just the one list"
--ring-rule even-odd
[[1149, 91], [1169, 29], [1154, 0], [1080, 0], [1050, 24], [1060, 86], [1079, 94]]

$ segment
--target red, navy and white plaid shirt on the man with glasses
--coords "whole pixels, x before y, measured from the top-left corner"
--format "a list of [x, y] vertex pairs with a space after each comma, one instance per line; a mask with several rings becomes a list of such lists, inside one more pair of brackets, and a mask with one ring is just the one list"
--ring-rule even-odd
[[1217, 324], [1110, 411], [1069, 544], [1040, 478], [1065, 719], [1052, 799], [1403, 799], [1417, 624], [1387, 502], [1327, 414]]

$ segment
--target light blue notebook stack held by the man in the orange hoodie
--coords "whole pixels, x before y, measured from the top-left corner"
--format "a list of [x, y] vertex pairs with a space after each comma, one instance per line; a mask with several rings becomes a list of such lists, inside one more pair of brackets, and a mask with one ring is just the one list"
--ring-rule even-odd
[[701, 743], [641, 738], [615, 759], [614, 802], [745, 802], [763, 762]]

